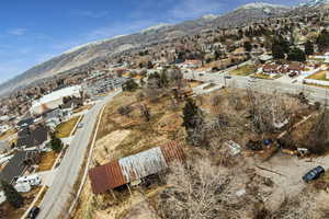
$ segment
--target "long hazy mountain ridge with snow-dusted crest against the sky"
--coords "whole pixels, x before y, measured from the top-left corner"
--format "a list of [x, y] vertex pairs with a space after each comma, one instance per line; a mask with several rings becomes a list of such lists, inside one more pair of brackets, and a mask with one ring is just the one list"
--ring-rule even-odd
[[229, 27], [241, 25], [254, 20], [277, 15], [288, 10], [290, 8], [280, 4], [254, 2], [241, 5], [223, 15], [206, 14], [196, 20], [184, 21], [178, 24], [160, 23], [159, 25], [150, 26], [131, 35], [91, 42], [71, 48], [0, 84], [0, 93], [10, 92], [14, 89], [25, 87], [36, 80], [56, 76], [57, 73], [86, 65], [97, 58], [114, 55], [132, 48], [138, 48], [151, 43], [170, 39], [171, 37], [197, 33], [208, 26]]

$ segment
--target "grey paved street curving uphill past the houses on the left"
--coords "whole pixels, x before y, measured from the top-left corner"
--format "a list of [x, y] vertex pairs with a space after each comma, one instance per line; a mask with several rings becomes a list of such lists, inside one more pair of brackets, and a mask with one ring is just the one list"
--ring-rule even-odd
[[112, 92], [98, 102], [88, 114], [83, 117], [83, 127], [78, 129], [73, 137], [69, 149], [67, 150], [60, 166], [57, 170], [54, 183], [46, 193], [42, 204], [41, 212], [37, 219], [57, 219], [67, 207], [67, 201], [71, 197], [73, 184], [79, 174], [80, 166], [87, 152], [88, 143], [92, 137], [92, 130], [97, 122], [97, 117], [102, 106], [117, 95], [121, 90]]

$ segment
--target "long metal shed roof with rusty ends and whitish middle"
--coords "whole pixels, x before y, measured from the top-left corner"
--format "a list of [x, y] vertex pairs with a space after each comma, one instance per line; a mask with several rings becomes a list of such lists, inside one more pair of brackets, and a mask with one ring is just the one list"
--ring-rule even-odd
[[171, 162], [185, 159], [179, 142], [156, 147], [140, 153], [112, 161], [89, 170], [92, 192], [104, 193], [107, 189], [140, 180], [166, 170]]

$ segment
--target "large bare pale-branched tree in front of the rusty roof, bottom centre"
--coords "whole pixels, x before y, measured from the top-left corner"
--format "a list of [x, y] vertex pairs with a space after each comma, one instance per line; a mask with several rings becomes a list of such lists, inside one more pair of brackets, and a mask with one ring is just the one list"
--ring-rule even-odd
[[160, 195], [159, 214], [168, 219], [227, 218], [225, 203], [230, 177], [208, 160], [177, 164], [168, 176], [170, 188]]

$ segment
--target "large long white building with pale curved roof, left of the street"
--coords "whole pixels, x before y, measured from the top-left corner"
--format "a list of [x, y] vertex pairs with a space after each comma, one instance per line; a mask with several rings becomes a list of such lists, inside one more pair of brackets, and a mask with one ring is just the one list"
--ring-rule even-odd
[[38, 100], [33, 101], [30, 112], [32, 115], [39, 115], [47, 111], [55, 110], [63, 104], [64, 97], [81, 97], [81, 85], [73, 85], [54, 91]]

